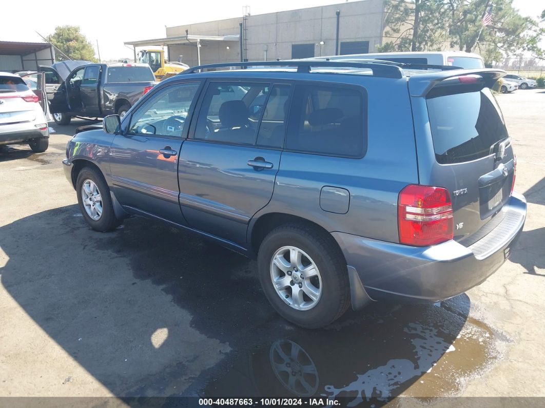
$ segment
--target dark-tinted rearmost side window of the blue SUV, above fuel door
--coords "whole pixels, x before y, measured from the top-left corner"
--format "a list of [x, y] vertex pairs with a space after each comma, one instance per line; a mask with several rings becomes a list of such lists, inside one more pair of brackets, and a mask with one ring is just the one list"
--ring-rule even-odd
[[367, 147], [367, 97], [359, 89], [295, 87], [286, 149], [362, 157]]

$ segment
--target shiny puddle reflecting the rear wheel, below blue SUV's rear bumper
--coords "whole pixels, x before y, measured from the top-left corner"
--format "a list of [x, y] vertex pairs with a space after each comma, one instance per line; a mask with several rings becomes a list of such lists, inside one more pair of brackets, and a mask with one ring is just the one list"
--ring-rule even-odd
[[[459, 297], [453, 302], [469, 302]], [[503, 354], [494, 330], [465, 320], [467, 306], [453, 313], [442, 306], [405, 305], [388, 312], [377, 305], [365, 318], [346, 320], [338, 328], [292, 328], [254, 350], [239, 351], [223, 375], [210, 376], [195, 391], [220, 398], [327, 397], [347, 406], [383, 405], [401, 395], [433, 405], [438, 398], [461, 394], [469, 379]]]

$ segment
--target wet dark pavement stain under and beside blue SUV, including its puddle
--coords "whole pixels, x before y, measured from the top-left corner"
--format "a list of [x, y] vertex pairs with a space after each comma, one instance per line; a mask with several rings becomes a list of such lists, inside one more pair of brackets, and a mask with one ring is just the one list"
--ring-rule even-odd
[[207, 398], [335, 397], [349, 406], [372, 399], [378, 406], [406, 395], [433, 405], [461, 394], [510, 342], [483, 322], [486, 316], [470, 316], [465, 294], [435, 305], [377, 302], [324, 330], [302, 330], [264, 299], [254, 261], [153, 221], [124, 225], [97, 248], [130, 260], [135, 278], [160, 286], [191, 313], [193, 328], [231, 349], [185, 391], [169, 386], [184, 375], [176, 368], [164, 373], [160, 388], [133, 388], [129, 396], [170, 389]]

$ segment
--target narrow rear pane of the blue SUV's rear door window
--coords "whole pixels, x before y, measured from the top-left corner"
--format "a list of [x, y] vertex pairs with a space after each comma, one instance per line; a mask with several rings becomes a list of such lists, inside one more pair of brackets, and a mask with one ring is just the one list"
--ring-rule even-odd
[[[281, 148], [284, 144], [291, 88], [289, 85], [275, 85], [272, 87], [267, 105], [263, 110], [261, 125], [259, 125], [257, 145]], [[262, 105], [255, 106], [254, 111], [263, 108]]]

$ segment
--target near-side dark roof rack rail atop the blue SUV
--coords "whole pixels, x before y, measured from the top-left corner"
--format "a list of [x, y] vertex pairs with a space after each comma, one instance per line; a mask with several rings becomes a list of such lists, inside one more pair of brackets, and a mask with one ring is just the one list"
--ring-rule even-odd
[[247, 61], [247, 62], [229, 62], [221, 64], [206, 64], [206, 65], [197, 65], [192, 66], [190, 69], [181, 71], [178, 75], [194, 74], [195, 71], [202, 69], [211, 69], [211, 68], [227, 68], [229, 66], [240, 66], [240, 67], [255, 67], [255, 66], [285, 66], [289, 68], [297, 68], [299, 73], [308, 73], [311, 68], [363, 68], [370, 69], [373, 71], [373, 76], [378, 76], [382, 78], [402, 78], [403, 71], [398, 64], [379, 61], [379, 60], [368, 60], [366, 62], [355, 62], [355, 61], [311, 61], [311, 60], [301, 60], [301, 61]]

